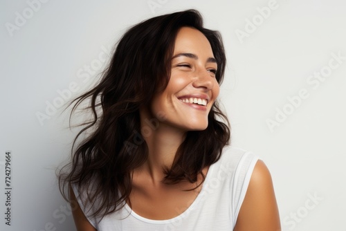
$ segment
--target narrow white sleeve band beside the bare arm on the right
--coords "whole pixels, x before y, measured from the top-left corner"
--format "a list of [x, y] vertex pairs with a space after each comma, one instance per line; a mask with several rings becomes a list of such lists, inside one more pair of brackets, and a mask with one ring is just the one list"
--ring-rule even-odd
[[253, 169], [259, 158], [250, 151], [246, 151], [239, 160], [237, 169], [235, 170], [235, 178], [233, 181], [233, 217], [237, 221], [240, 207], [245, 198], [248, 184], [250, 183]]

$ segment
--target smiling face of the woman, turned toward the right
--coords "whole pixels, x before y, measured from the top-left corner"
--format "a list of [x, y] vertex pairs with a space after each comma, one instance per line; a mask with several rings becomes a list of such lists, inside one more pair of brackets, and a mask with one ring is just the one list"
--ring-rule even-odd
[[174, 44], [170, 81], [154, 96], [153, 115], [165, 115], [165, 123], [184, 131], [208, 127], [208, 113], [219, 95], [215, 78], [217, 62], [208, 39], [199, 30], [183, 27]]

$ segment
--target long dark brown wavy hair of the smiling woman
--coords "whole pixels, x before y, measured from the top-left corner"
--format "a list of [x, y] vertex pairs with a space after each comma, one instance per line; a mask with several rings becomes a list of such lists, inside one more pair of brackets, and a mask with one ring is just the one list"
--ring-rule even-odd
[[[226, 65], [221, 35], [203, 28], [197, 10], [185, 10], [153, 17], [129, 28], [118, 41], [100, 82], [71, 102], [72, 115], [82, 102], [89, 100], [85, 109], [93, 116], [89, 122], [80, 124], [84, 127], [73, 142], [71, 163], [58, 170], [60, 191], [69, 201], [69, 185], [77, 184], [86, 192], [93, 216], [103, 217], [129, 201], [131, 172], [148, 155], [144, 140], [134, 144], [141, 136], [139, 109], [149, 106], [153, 95], [167, 86], [174, 41], [184, 26], [196, 28], [207, 37], [217, 60], [216, 79], [221, 84]], [[219, 160], [229, 142], [229, 122], [216, 101], [208, 114], [208, 127], [203, 131], [187, 131], [172, 167], [163, 169], [163, 183], [196, 183], [198, 176], [204, 181], [202, 169]]]

